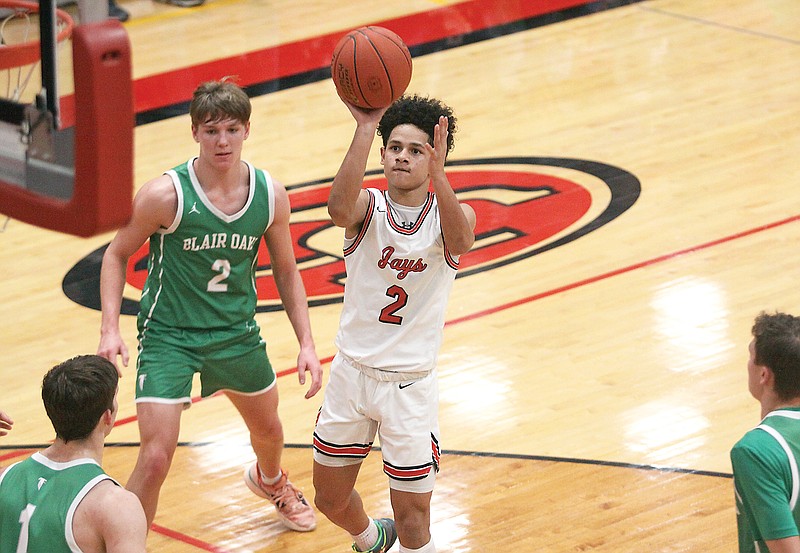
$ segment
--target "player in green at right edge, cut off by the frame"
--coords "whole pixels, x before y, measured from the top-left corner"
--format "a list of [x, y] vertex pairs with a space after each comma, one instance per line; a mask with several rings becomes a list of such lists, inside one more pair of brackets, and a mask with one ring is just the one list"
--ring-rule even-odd
[[759, 315], [748, 388], [761, 423], [731, 450], [740, 553], [800, 553], [800, 318]]

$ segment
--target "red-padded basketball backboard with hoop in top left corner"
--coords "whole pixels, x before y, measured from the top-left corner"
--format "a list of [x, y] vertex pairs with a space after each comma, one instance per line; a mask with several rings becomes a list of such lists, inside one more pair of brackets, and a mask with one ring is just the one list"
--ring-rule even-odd
[[[32, 98], [19, 86], [8, 86], [0, 97], [0, 213], [77, 236], [113, 230], [130, 217], [130, 43], [122, 24], [107, 14], [107, 0], [78, 0], [73, 27], [73, 17], [55, 0], [0, 0], [0, 69], [17, 71], [17, 85], [37, 65], [41, 69]], [[34, 32], [14, 37], [15, 23], [31, 22]], [[38, 55], [31, 60], [36, 36]], [[71, 69], [63, 59], [70, 51]], [[62, 96], [58, 75], [65, 70], [72, 73], [74, 92]]]

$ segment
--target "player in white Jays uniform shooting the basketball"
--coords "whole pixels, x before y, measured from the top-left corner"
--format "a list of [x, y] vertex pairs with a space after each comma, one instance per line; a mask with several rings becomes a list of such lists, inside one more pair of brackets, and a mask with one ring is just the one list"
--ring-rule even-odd
[[[355, 136], [328, 198], [331, 219], [345, 229], [347, 285], [314, 431], [315, 501], [352, 535], [354, 551], [384, 553], [399, 537], [401, 553], [433, 553], [436, 358], [459, 256], [475, 241], [475, 212], [444, 171], [455, 130], [449, 107], [404, 96], [388, 109], [348, 108]], [[362, 188], [376, 129], [388, 192]], [[376, 432], [394, 520], [370, 519], [354, 489]]]

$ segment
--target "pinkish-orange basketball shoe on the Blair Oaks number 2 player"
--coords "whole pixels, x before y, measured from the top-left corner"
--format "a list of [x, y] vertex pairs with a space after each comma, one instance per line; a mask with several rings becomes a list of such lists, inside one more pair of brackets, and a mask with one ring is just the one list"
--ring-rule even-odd
[[303, 497], [303, 492], [289, 482], [288, 475], [283, 470], [281, 479], [275, 485], [269, 486], [261, 480], [261, 471], [258, 470], [258, 462], [255, 462], [245, 469], [244, 483], [251, 492], [275, 505], [275, 512], [286, 527], [297, 532], [310, 532], [317, 527], [314, 509]]

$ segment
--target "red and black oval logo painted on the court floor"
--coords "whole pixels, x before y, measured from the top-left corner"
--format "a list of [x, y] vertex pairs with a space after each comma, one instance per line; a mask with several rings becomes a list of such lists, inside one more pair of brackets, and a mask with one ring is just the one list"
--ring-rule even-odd
[[[526, 259], [564, 246], [597, 230], [631, 208], [639, 180], [596, 161], [570, 158], [504, 157], [448, 163], [458, 198], [477, 215], [475, 245], [462, 256], [457, 278]], [[310, 306], [342, 301], [346, 278], [344, 231], [325, 208], [331, 181], [287, 187], [292, 204], [295, 257]], [[365, 186], [386, 188], [381, 170], [367, 174]], [[64, 277], [64, 293], [76, 303], [100, 309], [100, 264], [105, 246], [79, 261]], [[128, 263], [127, 283], [141, 290], [147, 277], [145, 244]], [[263, 241], [256, 274], [258, 311], [282, 309]], [[138, 313], [138, 297], [123, 298], [122, 313]]]

